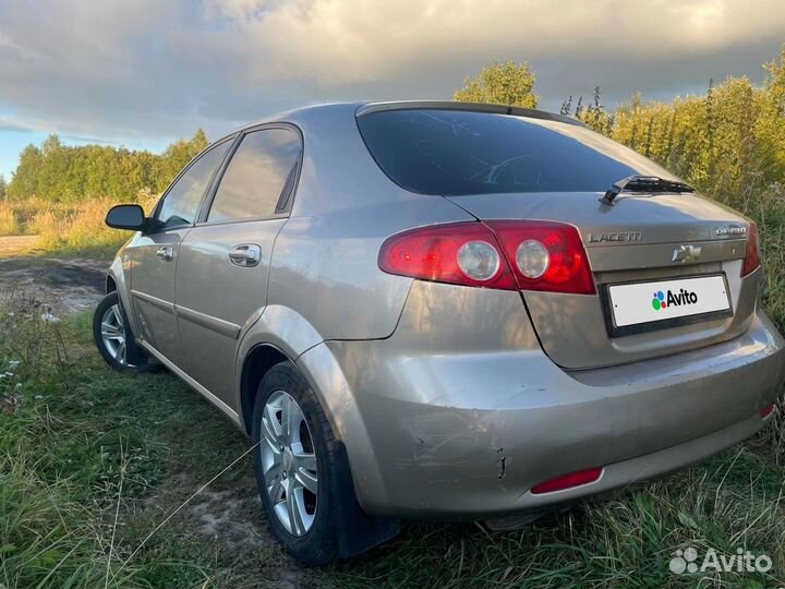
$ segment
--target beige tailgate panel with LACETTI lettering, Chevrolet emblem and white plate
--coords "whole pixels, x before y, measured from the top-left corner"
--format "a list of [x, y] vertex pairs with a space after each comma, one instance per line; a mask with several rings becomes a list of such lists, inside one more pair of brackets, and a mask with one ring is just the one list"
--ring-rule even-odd
[[523, 291], [545, 352], [569, 369], [665, 356], [746, 330], [760, 272], [741, 278], [749, 221], [696, 194], [595, 192], [448, 196], [482, 220], [577, 227], [596, 294]]

